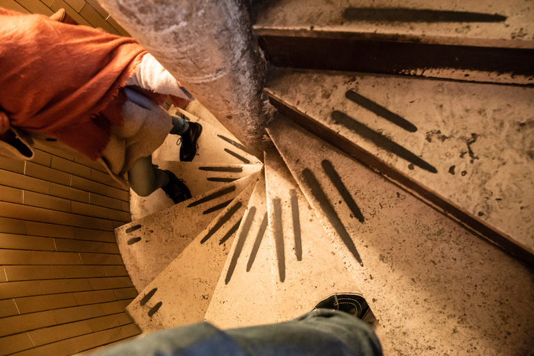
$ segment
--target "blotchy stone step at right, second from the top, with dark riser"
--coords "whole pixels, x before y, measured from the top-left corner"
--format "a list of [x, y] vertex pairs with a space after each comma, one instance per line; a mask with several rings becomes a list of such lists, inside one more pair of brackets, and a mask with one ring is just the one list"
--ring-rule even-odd
[[534, 88], [279, 70], [273, 103], [534, 266]]

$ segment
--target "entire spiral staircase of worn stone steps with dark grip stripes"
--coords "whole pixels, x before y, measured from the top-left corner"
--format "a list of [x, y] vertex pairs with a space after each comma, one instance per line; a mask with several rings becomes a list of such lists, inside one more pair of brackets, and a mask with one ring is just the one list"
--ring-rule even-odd
[[[127, 312], [143, 332], [201, 321], [227, 329], [288, 321], [332, 293], [359, 292], [385, 355], [532, 355], [534, 88], [521, 60], [534, 46], [532, 35], [503, 40], [512, 29], [501, 23], [522, 26], [532, 10], [471, 19], [469, 29], [384, 20], [373, 34], [351, 8], [349, 24], [334, 26], [340, 1], [314, 3], [259, 6], [254, 32], [276, 66], [264, 88], [277, 113], [263, 157], [199, 103], [170, 108], [203, 125], [197, 156], [179, 162], [169, 137], [154, 163], [193, 198], [131, 193], [133, 221], [115, 229], [139, 292]], [[373, 54], [347, 65], [344, 50], [317, 47], [362, 39], [391, 50], [383, 67]], [[403, 72], [395, 51], [412, 44], [466, 58], [496, 49], [516, 62], [505, 74], [461, 56], [464, 66]], [[323, 49], [307, 60], [314, 48]]]

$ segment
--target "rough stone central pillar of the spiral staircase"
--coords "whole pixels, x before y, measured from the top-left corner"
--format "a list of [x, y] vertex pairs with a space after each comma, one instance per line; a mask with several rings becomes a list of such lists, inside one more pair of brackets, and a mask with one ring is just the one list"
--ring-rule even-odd
[[99, 0], [195, 98], [263, 158], [272, 117], [248, 0]]

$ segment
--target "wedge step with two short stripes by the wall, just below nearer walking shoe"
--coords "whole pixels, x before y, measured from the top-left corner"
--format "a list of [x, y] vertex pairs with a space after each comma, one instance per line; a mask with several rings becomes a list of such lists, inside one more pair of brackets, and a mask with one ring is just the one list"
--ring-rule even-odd
[[143, 291], [258, 174], [115, 229], [124, 266], [137, 291]]

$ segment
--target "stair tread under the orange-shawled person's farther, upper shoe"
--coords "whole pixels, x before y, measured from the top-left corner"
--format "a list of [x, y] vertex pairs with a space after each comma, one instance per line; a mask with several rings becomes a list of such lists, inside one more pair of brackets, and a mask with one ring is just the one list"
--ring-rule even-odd
[[[193, 115], [189, 116], [191, 121], [194, 121]], [[197, 140], [198, 149], [194, 163], [261, 164], [234, 136], [228, 137], [227, 131], [220, 131], [202, 119], [197, 122], [202, 124], [202, 133]], [[168, 135], [163, 145], [152, 154], [152, 158], [159, 161], [179, 161], [179, 138], [177, 135]]]

